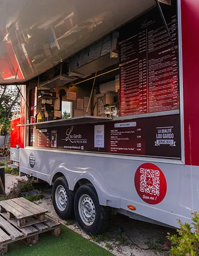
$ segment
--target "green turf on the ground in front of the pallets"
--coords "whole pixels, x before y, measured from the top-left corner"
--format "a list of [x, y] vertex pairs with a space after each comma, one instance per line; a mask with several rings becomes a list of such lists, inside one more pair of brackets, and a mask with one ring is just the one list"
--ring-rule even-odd
[[112, 256], [110, 252], [73, 230], [61, 225], [60, 237], [50, 233], [39, 235], [39, 242], [26, 246], [23, 242], [8, 244], [6, 256]]

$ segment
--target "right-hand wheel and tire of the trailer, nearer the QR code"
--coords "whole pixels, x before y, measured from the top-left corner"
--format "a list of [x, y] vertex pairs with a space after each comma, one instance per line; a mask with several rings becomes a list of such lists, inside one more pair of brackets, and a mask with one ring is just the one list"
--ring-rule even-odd
[[74, 210], [78, 224], [87, 234], [98, 235], [107, 229], [108, 209], [99, 204], [97, 193], [91, 184], [77, 189]]

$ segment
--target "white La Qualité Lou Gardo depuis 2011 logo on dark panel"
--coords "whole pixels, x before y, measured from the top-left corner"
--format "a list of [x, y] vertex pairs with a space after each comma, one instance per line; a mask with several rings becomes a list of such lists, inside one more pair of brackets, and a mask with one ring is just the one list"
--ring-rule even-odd
[[176, 146], [176, 141], [174, 141], [174, 133], [172, 131], [173, 126], [169, 127], [156, 127], [156, 141], [155, 146], [169, 145], [172, 147]]

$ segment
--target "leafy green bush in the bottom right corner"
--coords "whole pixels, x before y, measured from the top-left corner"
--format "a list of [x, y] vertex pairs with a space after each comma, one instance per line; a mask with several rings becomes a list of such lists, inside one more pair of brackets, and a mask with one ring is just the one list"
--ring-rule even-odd
[[170, 256], [199, 256], [199, 213], [192, 214], [193, 226], [178, 220], [180, 225], [180, 229], [177, 229], [178, 235], [171, 236], [168, 233], [168, 240], [171, 241]]

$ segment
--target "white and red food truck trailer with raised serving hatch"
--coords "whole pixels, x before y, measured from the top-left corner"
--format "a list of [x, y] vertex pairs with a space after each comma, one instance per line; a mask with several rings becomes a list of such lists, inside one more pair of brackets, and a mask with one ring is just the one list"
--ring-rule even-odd
[[57, 214], [75, 212], [93, 235], [116, 213], [191, 222], [199, 211], [199, 1], [45, 4], [39, 20], [42, 4], [21, 8], [5, 35], [24, 76], [15, 75], [21, 175], [52, 185]]

